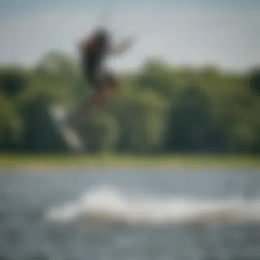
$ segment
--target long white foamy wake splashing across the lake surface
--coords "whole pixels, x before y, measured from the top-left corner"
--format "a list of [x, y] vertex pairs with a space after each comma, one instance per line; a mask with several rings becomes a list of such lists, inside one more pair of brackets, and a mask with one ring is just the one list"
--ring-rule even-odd
[[49, 209], [46, 217], [57, 222], [152, 225], [260, 222], [260, 200], [133, 199], [116, 189], [101, 187], [83, 194], [76, 203]]

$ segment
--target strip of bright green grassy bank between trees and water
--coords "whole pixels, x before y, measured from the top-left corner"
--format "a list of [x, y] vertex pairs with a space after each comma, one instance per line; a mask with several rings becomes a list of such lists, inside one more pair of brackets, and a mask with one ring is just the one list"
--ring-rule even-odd
[[120, 155], [5, 155], [0, 154], [0, 169], [24, 168], [88, 168], [88, 167], [246, 167], [259, 168], [257, 156], [213, 155], [166, 155], [166, 156], [120, 156]]

